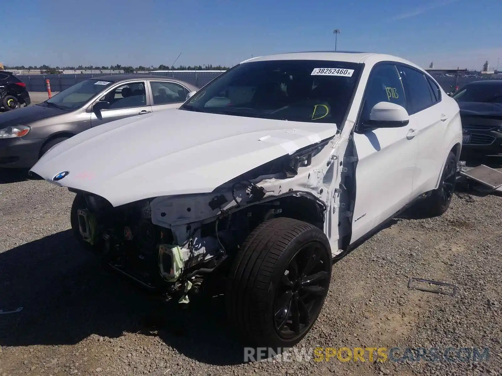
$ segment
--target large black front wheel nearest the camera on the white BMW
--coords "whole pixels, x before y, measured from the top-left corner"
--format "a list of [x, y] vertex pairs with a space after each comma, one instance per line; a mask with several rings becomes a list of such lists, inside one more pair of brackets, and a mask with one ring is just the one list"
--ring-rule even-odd
[[[299, 287], [298, 281], [310, 264], [307, 260], [314, 261], [307, 274], [316, 279]], [[233, 260], [225, 296], [228, 318], [248, 344], [292, 347], [317, 320], [330, 279], [331, 251], [326, 235], [305, 222], [271, 219], [249, 234]], [[280, 322], [286, 322], [282, 329]]]

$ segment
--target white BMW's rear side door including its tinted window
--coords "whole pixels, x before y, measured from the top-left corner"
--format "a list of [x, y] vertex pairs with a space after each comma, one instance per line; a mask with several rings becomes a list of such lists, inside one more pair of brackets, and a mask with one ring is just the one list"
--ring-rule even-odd
[[448, 129], [448, 109], [441, 102], [441, 90], [424, 72], [401, 64], [398, 66], [407, 98], [410, 123], [418, 140], [418, 158], [413, 178], [413, 195], [435, 188], [444, 162], [443, 139]]

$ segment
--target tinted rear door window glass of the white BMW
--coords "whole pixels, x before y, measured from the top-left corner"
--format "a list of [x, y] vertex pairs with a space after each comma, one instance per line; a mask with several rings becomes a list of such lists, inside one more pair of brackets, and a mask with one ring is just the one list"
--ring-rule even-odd
[[425, 110], [435, 102], [432, 99], [432, 90], [425, 74], [405, 66], [400, 67], [401, 77], [405, 79], [405, 88], [408, 98], [408, 113], [410, 115]]

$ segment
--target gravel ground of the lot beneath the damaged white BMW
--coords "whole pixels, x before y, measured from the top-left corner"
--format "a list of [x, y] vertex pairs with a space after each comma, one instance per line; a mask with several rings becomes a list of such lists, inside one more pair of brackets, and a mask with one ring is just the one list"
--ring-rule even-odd
[[[290, 353], [486, 347], [488, 361], [244, 363], [221, 296], [186, 310], [152, 302], [76, 246], [73, 194], [0, 171], [0, 309], [23, 307], [0, 315], [0, 376], [502, 374], [502, 197], [471, 197], [439, 218], [397, 219], [336, 263], [318, 321]], [[410, 289], [410, 277], [458, 291]]]

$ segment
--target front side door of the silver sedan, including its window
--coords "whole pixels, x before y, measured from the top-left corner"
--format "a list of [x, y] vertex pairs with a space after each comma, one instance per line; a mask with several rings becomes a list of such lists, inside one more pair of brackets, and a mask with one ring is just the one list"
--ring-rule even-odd
[[152, 112], [146, 81], [132, 81], [111, 88], [99, 100], [110, 103], [108, 109], [101, 110], [102, 119], [91, 112], [91, 126], [95, 127], [113, 120]]

